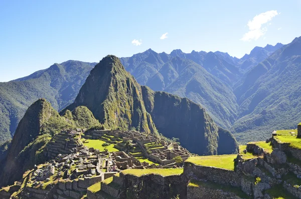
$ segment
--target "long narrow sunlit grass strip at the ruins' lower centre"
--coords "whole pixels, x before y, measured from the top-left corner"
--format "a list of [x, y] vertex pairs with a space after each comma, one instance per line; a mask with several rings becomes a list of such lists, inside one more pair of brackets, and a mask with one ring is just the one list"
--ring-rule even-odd
[[131, 174], [137, 177], [147, 174], [158, 174], [163, 176], [180, 175], [183, 168], [150, 168], [150, 169], [126, 169], [121, 171], [123, 174]]

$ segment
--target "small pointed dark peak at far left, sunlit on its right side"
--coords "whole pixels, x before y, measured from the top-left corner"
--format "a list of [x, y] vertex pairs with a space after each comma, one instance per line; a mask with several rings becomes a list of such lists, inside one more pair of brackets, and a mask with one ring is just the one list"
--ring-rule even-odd
[[33, 103], [18, 124], [8, 155], [0, 166], [0, 185], [20, 179], [35, 163], [42, 163], [41, 148], [56, 130], [66, 127], [71, 125], [45, 99]]

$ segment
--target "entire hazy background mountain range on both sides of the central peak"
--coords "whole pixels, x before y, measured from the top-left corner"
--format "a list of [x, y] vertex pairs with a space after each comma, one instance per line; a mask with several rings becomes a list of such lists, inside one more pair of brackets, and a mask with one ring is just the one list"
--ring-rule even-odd
[[[238, 141], [246, 142], [254, 133], [252, 140], [263, 139], [274, 127], [295, 128], [301, 120], [297, 111], [300, 40], [255, 47], [241, 59], [219, 51], [167, 54], [148, 49], [120, 61], [137, 83], [191, 99]], [[35, 100], [45, 97], [59, 111], [72, 103], [94, 65], [67, 61], [0, 83], [0, 144], [11, 138]]]

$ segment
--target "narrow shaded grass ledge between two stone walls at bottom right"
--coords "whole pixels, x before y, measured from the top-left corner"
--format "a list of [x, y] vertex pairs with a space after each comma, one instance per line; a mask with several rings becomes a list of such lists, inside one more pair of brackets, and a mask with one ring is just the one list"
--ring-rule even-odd
[[224, 184], [218, 184], [215, 182], [207, 181], [207, 182], [202, 182], [198, 180], [191, 180], [188, 183], [188, 186], [193, 186], [193, 187], [207, 187], [207, 188], [212, 188], [212, 189], [222, 189], [223, 191], [228, 191], [236, 194], [237, 196], [241, 198], [250, 198], [246, 193], [244, 193], [239, 187], [234, 187], [231, 185], [224, 185]]

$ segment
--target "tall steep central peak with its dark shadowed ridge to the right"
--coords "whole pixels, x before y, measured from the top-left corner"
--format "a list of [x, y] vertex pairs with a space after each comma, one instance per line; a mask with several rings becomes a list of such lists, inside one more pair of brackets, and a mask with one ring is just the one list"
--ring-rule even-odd
[[[219, 127], [200, 105], [186, 98], [141, 88], [115, 56], [107, 56], [95, 66], [74, 103], [66, 110], [72, 111], [81, 105], [87, 106], [107, 128], [134, 127], [158, 134], [157, 127], [164, 136], [178, 136], [191, 152], [217, 154]], [[221, 146], [220, 151], [235, 152], [236, 140], [232, 136], [228, 138], [227, 148]]]

